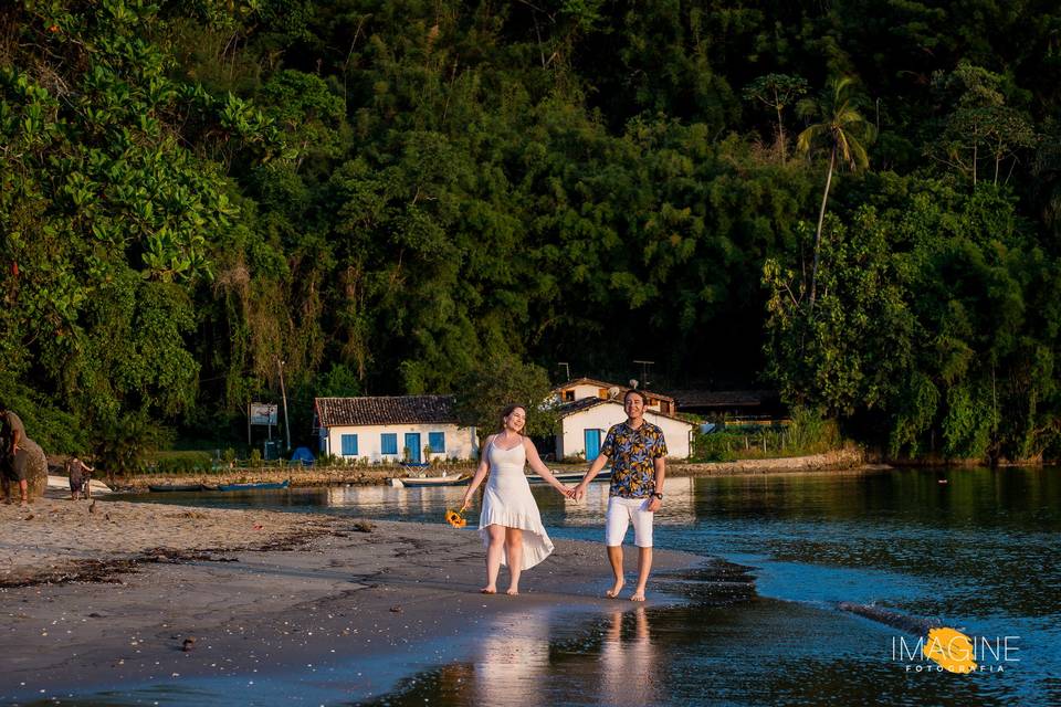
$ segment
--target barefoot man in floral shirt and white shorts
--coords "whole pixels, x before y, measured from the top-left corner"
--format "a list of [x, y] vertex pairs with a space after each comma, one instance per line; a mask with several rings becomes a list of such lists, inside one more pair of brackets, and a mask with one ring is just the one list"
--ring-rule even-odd
[[608, 592], [614, 599], [626, 583], [622, 574], [622, 539], [633, 523], [633, 544], [638, 546], [638, 584], [632, 601], [644, 601], [644, 587], [652, 571], [652, 519], [663, 505], [663, 478], [666, 475], [666, 442], [663, 431], [644, 420], [648, 397], [628, 390], [622, 399], [627, 421], [612, 425], [582, 481], [575, 487], [576, 499], [586, 495], [586, 486], [611, 460], [611, 488], [605, 520], [605, 545], [616, 583]]

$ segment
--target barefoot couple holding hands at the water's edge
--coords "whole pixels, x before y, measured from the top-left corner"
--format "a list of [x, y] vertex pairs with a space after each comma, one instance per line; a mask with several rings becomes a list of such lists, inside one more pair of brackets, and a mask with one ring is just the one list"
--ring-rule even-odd
[[605, 523], [605, 545], [614, 574], [607, 595], [618, 598], [624, 580], [622, 539], [633, 524], [638, 546], [638, 584], [630, 599], [644, 601], [644, 585], [652, 569], [652, 518], [663, 504], [666, 444], [663, 431], [644, 419], [648, 398], [640, 390], [623, 398], [627, 420], [612, 425], [601, 445], [600, 455], [574, 488], [561, 484], [538, 457], [534, 444], [523, 434], [526, 410], [510, 405], [502, 413], [502, 430], [486, 440], [482, 462], [464, 492], [461, 510], [471, 506], [472, 496], [486, 477], [479, 532], [486, 546], [486, 585], [484, 594], [497, 592], [501, 567], [508, 567], [508, 594], [519, 593], [519, 573], [553, 552], [553, 542], [542, 526], [538, 506], [523, 473], [526, 464], [550, 486], [572, 500], [581, 500], [586, 486], [611, 461], [611, 488]]

